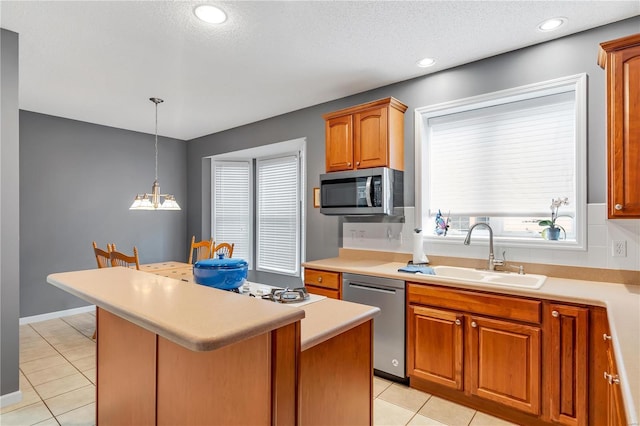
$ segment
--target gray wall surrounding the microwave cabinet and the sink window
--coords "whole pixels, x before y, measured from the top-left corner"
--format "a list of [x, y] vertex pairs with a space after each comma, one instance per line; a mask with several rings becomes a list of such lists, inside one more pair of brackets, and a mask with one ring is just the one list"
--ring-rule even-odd
[[210, 191], [203, 157], [306, 137], [307, 260], [336, 256], [341, 222], [321, 215], [310, 196], [325, 167], [322, 114], [387, 96], [409, 106], [405, 114], [405, 204], [412, 206], [415, 108], [583, 72], [588, 75], [588, 202], [605, 202], [605, 74], [596, 63], [598, 45], [637, 32], [639, 17], [189, 141], [187, 234], [199, 235], [208, 221]]

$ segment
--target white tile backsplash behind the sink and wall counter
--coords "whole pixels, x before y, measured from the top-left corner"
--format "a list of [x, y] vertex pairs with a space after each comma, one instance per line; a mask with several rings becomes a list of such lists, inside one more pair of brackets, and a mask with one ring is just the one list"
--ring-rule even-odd
[[[404, 223], [343, 222], [342, 247], [412, 253], [414, 209], [405, 208]], [[615, 243], [619, 243], [614, 247]], [[553, 248], [501, 247], [494, 243], [496, 257], [506, 251], [509, 261], [550, 265], [583, 266], [602, 269], [640, 271], [640, 220], [608, 220], [605, 204], [587, 205], [587, 250]], [[434, 256], [454, 256], [484, 259], [486, 242], [465, 246], [459, 242], [424, 240], [424, 251]], [[618, 251], [618, 256], [614, 252]], [[620, 255], [625, 254], [625, 255]]]

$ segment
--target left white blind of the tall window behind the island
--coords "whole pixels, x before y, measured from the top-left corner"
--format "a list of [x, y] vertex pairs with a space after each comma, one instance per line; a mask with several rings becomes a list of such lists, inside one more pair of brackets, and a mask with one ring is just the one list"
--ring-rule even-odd
[[251, 163], [213, 163], [213, 239], [233, 243], [233, 257], [250, 261]]

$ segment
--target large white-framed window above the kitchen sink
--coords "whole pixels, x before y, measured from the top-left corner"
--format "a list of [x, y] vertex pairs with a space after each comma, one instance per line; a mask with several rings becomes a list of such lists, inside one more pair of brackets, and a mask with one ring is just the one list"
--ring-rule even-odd
[[483, 221], [503, 241], [546, 243], [538, 221], [553, 198], [568, 197], [561, 243], [584, 246], [586, 75], [418, 108], [416, 123], [425, 235], [440, 211], [450, 218], [445, 238]]

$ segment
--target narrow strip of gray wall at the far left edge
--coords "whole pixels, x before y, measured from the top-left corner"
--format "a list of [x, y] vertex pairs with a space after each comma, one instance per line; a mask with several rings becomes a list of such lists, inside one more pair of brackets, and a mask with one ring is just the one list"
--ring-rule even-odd
[[18, 391], [18, 34], [0, 29], [0, 395]]

